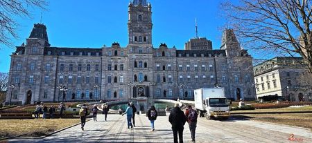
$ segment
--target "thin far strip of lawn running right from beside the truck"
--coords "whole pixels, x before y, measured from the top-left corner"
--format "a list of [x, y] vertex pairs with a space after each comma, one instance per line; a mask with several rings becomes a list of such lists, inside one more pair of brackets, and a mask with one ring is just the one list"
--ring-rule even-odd
[[235, 113], [235, 112], [273, 112], [273, 111], [312, 111], [312, 106], [287, 107], [287, 108], [267, 108], [267, 109], [231, 111], [231, 112]]

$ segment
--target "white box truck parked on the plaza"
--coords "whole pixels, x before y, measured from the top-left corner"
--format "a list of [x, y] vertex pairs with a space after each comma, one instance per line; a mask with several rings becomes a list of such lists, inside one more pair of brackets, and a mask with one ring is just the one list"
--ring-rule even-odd
[[221, 117], [226, 120], [230, 116], [229, 102], [223, 87], [194, 90], [194, 102], [198, 115], [205, 116], [207, 120], [211, 117]]

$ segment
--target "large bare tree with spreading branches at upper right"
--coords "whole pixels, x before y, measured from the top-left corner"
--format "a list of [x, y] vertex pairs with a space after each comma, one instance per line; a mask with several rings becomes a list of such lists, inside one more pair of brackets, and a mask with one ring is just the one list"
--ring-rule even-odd
[[312, 73], [311, 0], [239, 0], [221, 6], [245, 48], [299, 54]]

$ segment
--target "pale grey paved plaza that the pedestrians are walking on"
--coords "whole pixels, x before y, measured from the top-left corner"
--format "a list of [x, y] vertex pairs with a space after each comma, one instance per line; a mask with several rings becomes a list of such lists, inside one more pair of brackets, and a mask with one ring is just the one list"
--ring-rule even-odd
[[[103, 118], [103, 115], [98, 115], [98, 122], [87, 122], [85, 131], [81, 131], [79, 125], [49, 137], [17, 138], [9, 142], [173, 142], [168, 116], [157, 117], [155, 131], [151, 131], [145, 115], [136, 115], [136, 126], [132, 129], [127, 128], [125, 115], [108, 115], [107, 122]], [[301, 142], [312, 142], [312, 132], [306, 128], [235, 117], [227, 121], [200, 118], [196, 131], [196, 142], [294, 142], [288, 140], [291, 133]], [[187, 124], [184, 126], [184, 142], [191, 142]]]

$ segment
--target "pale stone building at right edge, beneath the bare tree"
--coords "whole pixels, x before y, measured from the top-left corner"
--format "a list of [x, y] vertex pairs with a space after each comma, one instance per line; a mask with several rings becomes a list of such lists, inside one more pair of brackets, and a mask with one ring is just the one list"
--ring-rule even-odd
[[280, 99], [293, 102], [312, 102], [311, 85], [304, 77], [308, 71], [301, 57], [275, 57], [254, 66], [257, 98], [277, 95]]

